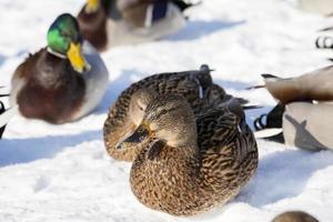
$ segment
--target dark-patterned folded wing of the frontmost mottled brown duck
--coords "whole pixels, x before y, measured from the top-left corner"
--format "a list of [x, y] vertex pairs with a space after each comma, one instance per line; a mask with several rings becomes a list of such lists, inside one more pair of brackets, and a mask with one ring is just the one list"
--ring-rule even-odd
[[198, 117], [196, 125], [203, 184], [219, 191], [214, 198], [228, 201], [255, 172], [254, 135], [245, 121], [226, 108]]

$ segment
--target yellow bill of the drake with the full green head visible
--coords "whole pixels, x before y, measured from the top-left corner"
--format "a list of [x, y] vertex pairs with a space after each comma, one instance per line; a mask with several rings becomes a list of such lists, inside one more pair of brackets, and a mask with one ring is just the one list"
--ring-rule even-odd
[[82, 73], [82, 72], [89, 70], [90, 67], [82, 54], [80, 43], [75, 44], [75, 43], [71, 42], [70, 49], [67, 52], [67, 57], [70, 60], [73, 69], [77, 72]]

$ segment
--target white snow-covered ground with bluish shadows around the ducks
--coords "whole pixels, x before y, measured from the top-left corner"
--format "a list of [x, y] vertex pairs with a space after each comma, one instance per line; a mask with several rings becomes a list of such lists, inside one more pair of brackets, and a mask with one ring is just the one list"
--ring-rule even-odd
[[[83, 0], [0, 1], [0, 85], [16, 67], [46, 44], [49, 24], [77, 13]], [[109, 158], [102, 140], [108, 108], [131, 82], [149, 74], [210, 64], [230, 93], [274, 105], [260, 73], [297, 75], [329, 64], [314, 49], [316, 30], [332, 20], [300, 11], [294, 0], [204, 0], [189, 11], [188, 27], [159, 42], [122, 47], [102, 57], [108, 93], [95, 112], [75, 123], [50, 125], [13, 118], [0, 141], [0, 221], [269, 222], [285, 210], [304, 210], [333, 221], [333, 153], [310, 153], [259, 141], [256, 175], [224, 206], [194, 218], [174, 218], [141, 205], [130, 191], [130, 163]], [[8, 92], [9, 88], [0, 92]]]

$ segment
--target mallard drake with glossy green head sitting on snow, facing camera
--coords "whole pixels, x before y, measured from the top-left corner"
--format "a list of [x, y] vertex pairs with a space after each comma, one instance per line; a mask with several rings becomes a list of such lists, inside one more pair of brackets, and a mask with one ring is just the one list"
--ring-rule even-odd
[[108, 78], [99, 53], [82, 41], [75, 18], [64, 13], [51, 24], [48, 47], [17, 68], [10, 102], [26, 118], [70, 122], [99, 104]]

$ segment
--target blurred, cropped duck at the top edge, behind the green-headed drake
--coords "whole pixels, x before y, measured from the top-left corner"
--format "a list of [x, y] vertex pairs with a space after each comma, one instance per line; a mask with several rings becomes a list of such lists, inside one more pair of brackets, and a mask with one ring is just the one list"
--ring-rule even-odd
[[152, 41], [185, 24], [182, 0], [88, 0], [78, 16], [83, 37], [99, 51]]

